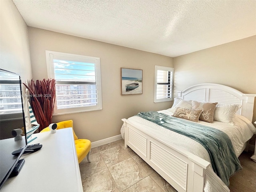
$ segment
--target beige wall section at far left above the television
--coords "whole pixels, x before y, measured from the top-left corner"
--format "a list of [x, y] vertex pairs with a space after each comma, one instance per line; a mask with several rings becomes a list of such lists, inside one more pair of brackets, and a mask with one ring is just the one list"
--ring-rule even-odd
[[32, 78], [28, 27], [12, 0], [0, 1], [0, 68]]

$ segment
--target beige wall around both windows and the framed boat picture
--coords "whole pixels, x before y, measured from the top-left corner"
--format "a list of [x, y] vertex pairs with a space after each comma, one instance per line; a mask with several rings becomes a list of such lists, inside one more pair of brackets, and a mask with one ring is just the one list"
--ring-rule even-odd
[[[153, 102], [154, 66], [172, 67], [172, 58], [38, 28], [29, 27], [28, 32], [34, 80], [47, 78], [45, 50], [100, 57], [103, 109], [53, 117], [53, 122], [74, 120], [79, 138], [94, 142], [116, 136], [122, 118], [170, 106], [170, 102]], [[121, 67], [143, 70], [143, 94], [121, 96]]]

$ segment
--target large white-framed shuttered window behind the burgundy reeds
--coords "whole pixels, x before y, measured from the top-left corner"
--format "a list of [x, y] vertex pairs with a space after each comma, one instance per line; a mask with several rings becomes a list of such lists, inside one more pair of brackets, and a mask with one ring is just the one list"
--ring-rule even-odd
[[102, 109], [100, 58], [46, 51], [46, 61], [56, 80], [54, 114]]

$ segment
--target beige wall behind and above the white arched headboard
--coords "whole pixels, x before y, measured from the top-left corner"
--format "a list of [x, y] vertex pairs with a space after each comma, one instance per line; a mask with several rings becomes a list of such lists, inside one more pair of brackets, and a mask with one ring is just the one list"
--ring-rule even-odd
[[224, 84], [256, 94], [256, 36], [176, 57], [173, 64], [174, 96], [199, 83]]

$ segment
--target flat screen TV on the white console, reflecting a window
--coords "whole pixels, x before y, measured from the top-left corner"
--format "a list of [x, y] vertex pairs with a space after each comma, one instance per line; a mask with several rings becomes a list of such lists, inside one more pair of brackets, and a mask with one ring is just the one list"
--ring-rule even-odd
[[[14, 139], [12, 130], [22, 128], [22, 137]], [[10, 176], [26, 146], [21, 77], [19, 74], [0, 69], [0, 188]], [[24, 149], [19, 156], [12, 155], [14, 150], [21, 147]]]

